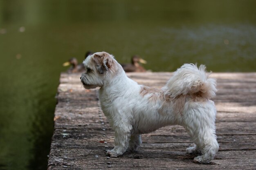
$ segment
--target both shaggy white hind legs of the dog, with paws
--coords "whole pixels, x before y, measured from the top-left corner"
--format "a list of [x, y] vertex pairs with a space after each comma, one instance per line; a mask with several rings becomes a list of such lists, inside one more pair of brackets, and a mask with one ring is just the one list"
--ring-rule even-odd
[[184, 127], [196, 144], [195, 148], [188, 148], [187, 152], [200, 150], [202, 155], [194, 158], [198, 163], [209, 163], [219, 149], [215, 135], [215, 113], [209, 113], [211, 111], [214, 112], [210, 108], [200, 108], [190, 109], [186, 113]]

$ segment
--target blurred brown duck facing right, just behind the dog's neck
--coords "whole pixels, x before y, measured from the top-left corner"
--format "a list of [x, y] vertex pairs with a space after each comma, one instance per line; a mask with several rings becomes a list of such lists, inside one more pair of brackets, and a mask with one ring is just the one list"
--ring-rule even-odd
[[121, 64], [125, 72], [145, 72], [145, 68], [139, 65], [139, 62], [146, 64], [147, 62], [140, 58], [138, 55], [132, 57], [132, 62], [129, 64]]

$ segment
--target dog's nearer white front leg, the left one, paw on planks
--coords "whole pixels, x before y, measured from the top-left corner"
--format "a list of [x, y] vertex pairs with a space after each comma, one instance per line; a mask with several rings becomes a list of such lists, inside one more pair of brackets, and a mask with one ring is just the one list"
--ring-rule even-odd
[[132, 125], [122, 124], [115, 126], [115, 147], [112, 150], [107, 150], [110, 157], [118, 157], [124, 154], [129, 146], [130, 134]]

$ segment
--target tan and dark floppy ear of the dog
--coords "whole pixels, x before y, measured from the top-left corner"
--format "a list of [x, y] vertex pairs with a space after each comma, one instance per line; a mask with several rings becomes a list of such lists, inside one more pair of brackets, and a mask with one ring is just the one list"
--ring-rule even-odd
[[106, 71], [108, 71], [108, 69], [111, 68], [113, 62], [110, 54], [106, 52], [95, 53], [93, 60], [97, 66], [97, 71], [100, 74], [104, 74]]

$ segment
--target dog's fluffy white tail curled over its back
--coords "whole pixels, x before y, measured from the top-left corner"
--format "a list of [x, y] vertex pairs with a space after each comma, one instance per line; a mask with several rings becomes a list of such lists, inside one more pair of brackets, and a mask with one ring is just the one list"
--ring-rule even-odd
[[175, 98], [178, 95], [197, 95], [207, 99], [215, 96], [216, 79], [208, 78], [206, 66], [184, 64], [174, 72], [173, 77], [162, 88], [164, 93]]

